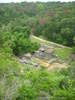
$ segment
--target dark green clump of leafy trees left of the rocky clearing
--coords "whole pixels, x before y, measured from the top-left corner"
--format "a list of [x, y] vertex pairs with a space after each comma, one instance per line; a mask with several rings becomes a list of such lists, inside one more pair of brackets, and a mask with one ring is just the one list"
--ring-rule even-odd
[[30, 40], [31, 32], [29, 27], [16, 26], [6, 31], [8, 26], [4, 27], [3, 31], [1, 31], [1, 47], [12, 49], [15, 55], [21, 55], [27, 52], [32, 53], [40, 47], [38, 43], [33, 43]]

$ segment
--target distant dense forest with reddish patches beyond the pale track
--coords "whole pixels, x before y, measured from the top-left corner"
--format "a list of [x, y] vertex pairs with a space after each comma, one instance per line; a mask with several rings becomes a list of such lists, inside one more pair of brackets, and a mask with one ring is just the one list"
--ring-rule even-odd
[[75, 2], [0, 4], [0, 26], [30, 27], [32, 34], [63, 45], [75, 45]]

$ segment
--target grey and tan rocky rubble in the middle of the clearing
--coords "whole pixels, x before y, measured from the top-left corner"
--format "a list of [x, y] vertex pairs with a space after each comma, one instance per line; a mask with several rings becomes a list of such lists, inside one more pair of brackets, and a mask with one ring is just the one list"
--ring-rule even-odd
[[[37, 58], [39, 60], [35, 62], [34, 58]], [[58, 57], [54, 54], [53, 47], [41, 44], [38, 51], [33, 54], [24, 54], [24, 56], [22, 56], [19, 61], [22, 64], [32, 65], [33, 67], [40, 67], [41, 63], [47, 63], [45, 65], [49, 66], [55, 62], [58, 62]]]

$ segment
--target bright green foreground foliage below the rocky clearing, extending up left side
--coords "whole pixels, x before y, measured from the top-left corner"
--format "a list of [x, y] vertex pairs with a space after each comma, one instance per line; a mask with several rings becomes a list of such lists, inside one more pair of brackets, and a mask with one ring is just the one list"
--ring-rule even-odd
[[[0, 50], [1, 100], [10, 99], [7, 97], [11, 97], [12, 100], [37, 100], [43, 96], [51, 100], [74, 99], [75, 63], [71, 63], [71, 67], [61, 71], [58, 69], [48, 71], [43, 67], [36, 69], [25, 65], [22, 74], [22, 65], [9, 51], [8, 49], [6, 53], [6, 49]], [[11, 96], [8, 96], [9, 94]]]

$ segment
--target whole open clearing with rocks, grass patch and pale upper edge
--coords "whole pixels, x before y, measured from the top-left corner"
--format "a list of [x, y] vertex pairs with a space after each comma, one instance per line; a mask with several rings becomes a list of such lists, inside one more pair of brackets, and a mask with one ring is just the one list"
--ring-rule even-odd
[[40, 43], [40, 48], [33, 54], [27, 53], [20, 57], [19, 61], [23, 64], [34, 67], [45, 66], [47, 69], [67, 68], [71, 55], [71, 48], [43, 40], [31, 35], [31, 41]]

